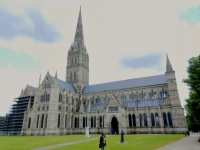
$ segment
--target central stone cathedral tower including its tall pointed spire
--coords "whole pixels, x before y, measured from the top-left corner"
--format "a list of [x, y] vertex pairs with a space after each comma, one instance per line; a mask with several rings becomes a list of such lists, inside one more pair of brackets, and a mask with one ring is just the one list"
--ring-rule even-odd
[[68, 51], [66, 82], [73, 84], [78, 93], [82, 93], [83, 87], [89, 84], [89, 55], [84, 45], [81, 8], [74, 43]]

